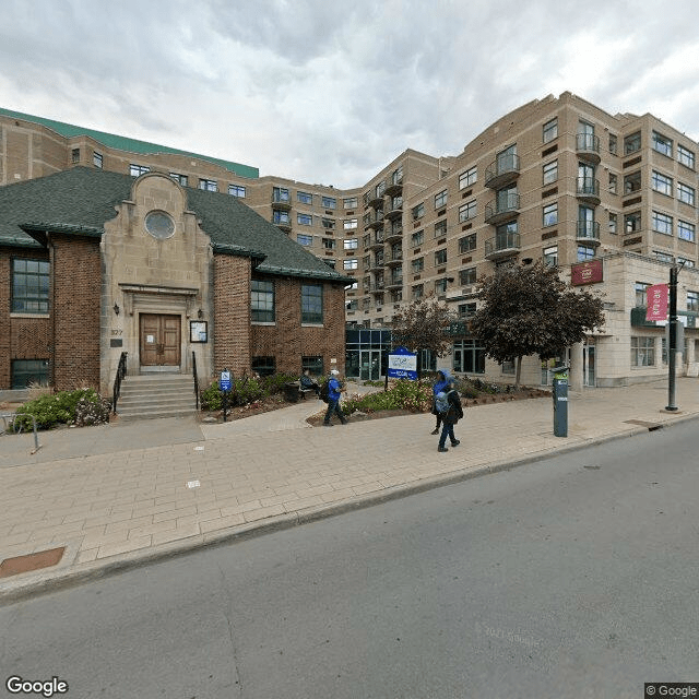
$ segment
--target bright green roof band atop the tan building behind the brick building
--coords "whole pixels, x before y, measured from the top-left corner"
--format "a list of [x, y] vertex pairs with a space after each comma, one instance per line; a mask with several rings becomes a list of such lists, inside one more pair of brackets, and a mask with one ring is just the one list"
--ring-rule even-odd
[[211, 157], [210, 155], [200, 155], [199, 153], [190, 153], [189, 151], [180, 151], [179, 149], [171, 149], [167, 145], [158, 145], [157, 143], [149, 143], [147, 141], [139, 141], [138, 139], [128, 139], [122, 135], [115, 135], [114, 133], [105, 133], [104, 131], [96, 131], [94, 129], [85, 129], [84, 127], [76, 127], [72, 123], [63, 123], [62, 121], [55, 121], [54, 119], [45, 119], [44, 117], [35, 117], [31, 114], [22, 114], [21, 111], [12, 111], [11, 109], [3, 109], [0, 107], [0, 116], [11, 117], [13, 119], [23, 119], [24, 121], [33, 121], [39, 123], [48, 129], [56, 131], [62, 137], [71, 138], [74, 135], [88, 135], [98, 143], [106, 145], [110, 149], [117, 149], [119, 151], [128, 151], [129, 153], [140, 153], [141, 155], [151, 155], [155, 153], [175, 153], [178, 155], [187, 155], [188, 157], [196, 157], [209, 163], [214, 163], [227, 170], [239, 175], [240, 177], [247, 177], [249, 179], [257, 179], [260, 176], [260, 170], [257, 167], [250, 165], [241, 165], [240, 163], [233, 163], [230, 161], [222, 161], [217, 157]]

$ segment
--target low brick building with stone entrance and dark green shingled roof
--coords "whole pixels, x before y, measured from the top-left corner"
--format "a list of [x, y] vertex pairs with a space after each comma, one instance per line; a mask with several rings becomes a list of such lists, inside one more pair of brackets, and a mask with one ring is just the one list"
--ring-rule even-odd
[[0, 389], [344, 369], [347, 277], [237, 198], [78, 166], [0, 187]]

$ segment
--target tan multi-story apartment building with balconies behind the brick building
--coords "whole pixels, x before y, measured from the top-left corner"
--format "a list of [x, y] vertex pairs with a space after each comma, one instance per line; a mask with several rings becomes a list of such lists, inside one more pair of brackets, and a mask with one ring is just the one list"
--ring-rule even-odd
[[[453, 352], [424, 359], [457, 372], [510, 378], [513, 367], [487, 359], [469, 333], [476, 282], [502, 264], [543, 260], [605, 294], [605, 327], [565, 350], [572, 386], [656, 378], [665, 371], [663, 330], [637, 308], [644, 288], [667, 282], [679, 263], [684, 366], [696, 371], [698, 144], [652, 115], [612, 115], [570, 93], [547, 96], [501, 117], [458, 155], [406, 150], [352, 189], [258, 177], [234, 163], [22, 117], [0, 110], [1, 183], [80, 163], [134, 176], [151, 168], [228, 192], [355, 280], [346, 289], [348, 327], [390, 328], [401, 304], [443, 299], [460, 321]], [[355, 359], [348, 355], [347, 367], [364, 371]], [[525, 362], [526, 382], [546, 376], [537, 359]]]

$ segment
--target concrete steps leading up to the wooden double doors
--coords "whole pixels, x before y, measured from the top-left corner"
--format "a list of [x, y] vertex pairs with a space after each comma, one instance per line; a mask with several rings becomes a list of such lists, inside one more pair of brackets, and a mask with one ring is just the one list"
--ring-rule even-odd
[[127, 376], [117, 402], [119, 419], [185, 417], [197, 410], [194, 379], [186, 374]]

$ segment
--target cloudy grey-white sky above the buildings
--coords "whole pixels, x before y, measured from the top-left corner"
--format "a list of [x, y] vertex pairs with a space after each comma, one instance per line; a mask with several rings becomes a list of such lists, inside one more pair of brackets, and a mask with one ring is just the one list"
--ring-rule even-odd
[[0, 106], [360, 187], [571, 91], [699, 139], [695, 0], [1, 0]]

